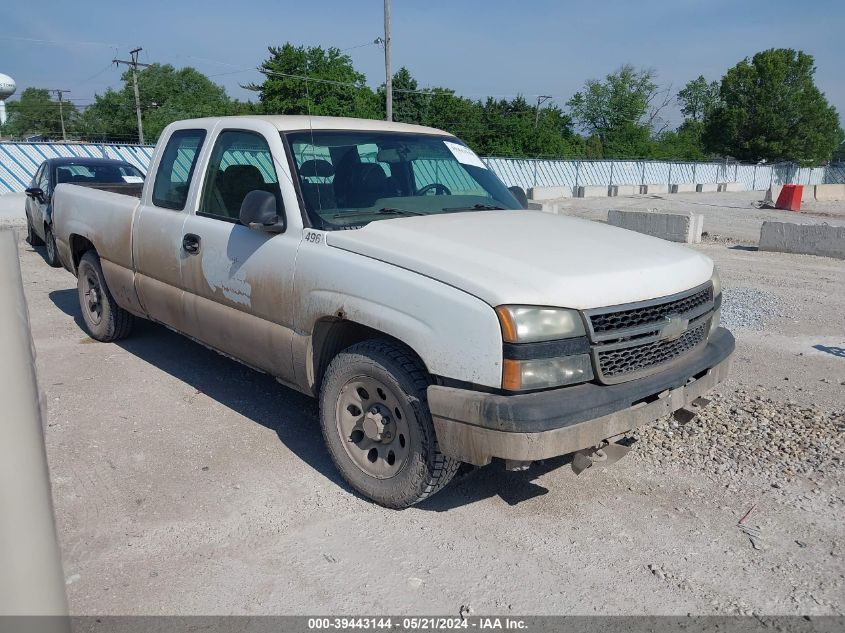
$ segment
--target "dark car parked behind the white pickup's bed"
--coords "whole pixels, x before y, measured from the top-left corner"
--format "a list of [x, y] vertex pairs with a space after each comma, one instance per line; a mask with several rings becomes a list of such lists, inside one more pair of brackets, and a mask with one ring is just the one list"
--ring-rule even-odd
[[61, 183], [98, 189], [140, 188], [144, 174], [122, 160], [108, 158], [49, 158], [41, 163], [26, 190], [26, 241], [32, 246], [46, 244], [47, 263], [61, 266], [53, 238], [52, 197]]

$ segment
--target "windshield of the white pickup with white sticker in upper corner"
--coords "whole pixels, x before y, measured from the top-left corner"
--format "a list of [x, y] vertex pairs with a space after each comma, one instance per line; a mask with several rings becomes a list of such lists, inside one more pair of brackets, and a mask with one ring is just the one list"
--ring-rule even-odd
[[502, 181], [454, 137], [318, 130], [286, 136], [306, 209], [319, 228], [521, 208]]

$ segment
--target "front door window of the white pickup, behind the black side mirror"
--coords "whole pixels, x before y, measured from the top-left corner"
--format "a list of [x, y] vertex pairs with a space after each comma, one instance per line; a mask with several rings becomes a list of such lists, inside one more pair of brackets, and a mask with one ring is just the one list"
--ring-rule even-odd
[[208, 161], [198, 214], [237, 222], [246, 194], [255, 190], [272, 193], [281, 206], [282, 192], [267, 140], [244, 130], [221, 132]]

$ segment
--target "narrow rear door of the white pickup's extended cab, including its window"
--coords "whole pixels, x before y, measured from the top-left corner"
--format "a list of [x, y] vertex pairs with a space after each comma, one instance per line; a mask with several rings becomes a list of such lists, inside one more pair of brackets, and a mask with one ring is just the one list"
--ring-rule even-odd
[[184, 330], [181, 260], [182, 226], [194, 170], [205, 142], [203, 129], [175, 130], [157, 164], [150, 166], [155, 180], [146, 187], [133, 227], [135, 288], [144, 310], [156, 321]]

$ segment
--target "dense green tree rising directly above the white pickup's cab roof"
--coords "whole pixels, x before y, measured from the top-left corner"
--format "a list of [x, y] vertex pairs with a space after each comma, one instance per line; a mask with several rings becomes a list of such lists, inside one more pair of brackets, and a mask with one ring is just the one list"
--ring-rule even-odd
[[266, 78], [245, 86], [258, 93], [265, 114], [383, 118], [378, 96], [349, 55], [334, 47], [290, 43], [267, 50], [270, 57], [259, 67]]

